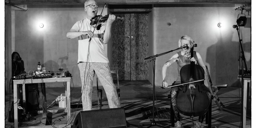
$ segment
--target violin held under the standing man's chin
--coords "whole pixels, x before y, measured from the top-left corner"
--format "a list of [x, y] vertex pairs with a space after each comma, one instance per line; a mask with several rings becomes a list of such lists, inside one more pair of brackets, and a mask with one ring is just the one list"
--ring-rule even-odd
[[[96, 15], [95, 17], [90, 19], [91, 21], [90, 25], [93, 25], [94, 27], [97, 28], [97, 30], [100, 30], [101, 24], [106, 24], [108, 18], [109, 18], [109, 15], [105, 15], [105, 16]], [[116, 17], [116, 19], [120, 21], [124, 21], [124, 17]]]

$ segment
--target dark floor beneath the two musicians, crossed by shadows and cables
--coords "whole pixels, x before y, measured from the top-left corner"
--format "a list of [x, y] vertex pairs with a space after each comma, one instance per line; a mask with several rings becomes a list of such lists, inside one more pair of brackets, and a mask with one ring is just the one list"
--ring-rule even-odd
[[[40, 88], [39, 88], [40, 90]], [[81, 88], [73, 88], [71, 86], [71, 125], [75, 120], [76, 115], [82, 111], [80, 98], [81, 98]], [[156, 91], [156, 100], [155, 108], [157, 108], [158, 113], [155, 114], [155, 122], [161, 126], [171, 127], [170, 123], [170, 99], [167, 95], [170, 93], [169, 89], [162, 89], [159, 87], [155, 88]], [[239, 93], [240, 91], [240, 93]], [[54, 103], [56, 97], [60, 96], [61, 93], [65, 93], [63, 88], [46, 88], [47, 104], [48, 110], [51, 109], [61, 109], [59, 108], [58, 102]], [[212, 102], [212, 127], [229, 127], [236, 128], [240, 126], [241, 114], [240, 114], [240, 101], [239, 94], [241, 95], [241, 88], [237, 87], [227, 87], [222, 88], [217, 93], [222, 103], [225, 105], [223, 111], [217, 107], [215, 102]], [[41, 96], [41, 94], [40, 94]], [[11, 95], [5, 96], [5, 127], [13, 127], [13, 122], [8, 122], [8, 111], [10, 111], [10, 100], [13, 101], [13, 93]], [[105, 93], [103, 93], [103, 106], [102, 109], [108, 109], [108, 102]], [[125, 110], [126, 120], [128, 122], [128, 127], [147, 127], [142, 126], [143, 124], [150, 124], [152, 119], [153, 110], [153, 86], [149, 81], [120, 81], [120, 99], [121, 107]], [[41, 106], [41, 97], [39, 98]], [[52, 104], [53, 103], [53, 104]], [[251, 100], [247, 103], [247, 118], [246, 118], [246, 127], [251, 127]], [[93, 90], [93, 110], [97, 110], [97, 91], [96, 88]], [[32, 113], [32, 112], [31, 112]], [[25, 115], [26, 116], [26, 115]], [[48, 115], [48, 120], [52, 122], [52, 127], [58, 124], [67, 124], [67, 113], [59, 112], [52, 113]], [[28, 121], [28, 119], [31, 119]], [[198, 117], [194, 117], [194, 121]], [[183, 128], [193, 127], [192, 118], [183, 116], [182, 117]], [[25, 118], [23, 122], [19, 123], [19, 127], [26, 126], [42, 126], [44, 127], [46, 123], [46, 116], [43, 115], [40, 111], [37, 111], [32, 115], [32, 118]], [[205, 124], [205, 119], [203, 122], [204, 127], [208, 127]], [[157, 126], [153, 126], [157, 127]]]

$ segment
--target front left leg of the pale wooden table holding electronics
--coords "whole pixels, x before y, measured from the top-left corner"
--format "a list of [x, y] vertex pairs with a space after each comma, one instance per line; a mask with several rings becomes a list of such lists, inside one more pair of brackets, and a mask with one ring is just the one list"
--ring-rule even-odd
[[13, 107], [14, 107], [14, 127], [18, 127], [18, 102], [17, 102], [17, 84], [13, 84]]

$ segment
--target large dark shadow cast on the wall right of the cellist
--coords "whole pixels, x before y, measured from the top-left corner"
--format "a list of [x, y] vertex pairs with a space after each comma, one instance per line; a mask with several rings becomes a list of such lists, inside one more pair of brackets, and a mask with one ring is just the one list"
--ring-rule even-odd
[[[213, 84], [228, 84], [228, 86], [235, 87], [239, 85], [237, 79], [239, 75], [238, 59], [242, 54], [240, 54], [241, 48], [239, 50], [238, 34], [237, 37], [234, 37], [237, 41], [232, 41], [232, 35], [234, 34], [231, 29], [227, 33], [220, 32], [218, 41], [207, 48], [206, 62], [209, 64], [208, 68]], [[250, 42], [242, 42], [242, 45], [244, 52], [250, 53]], [[242, 60], [240, 59], [240, 65], [242, 64], [241, 62]], [[251, 60], [246, 60], [246, 63], [250, 62]]]

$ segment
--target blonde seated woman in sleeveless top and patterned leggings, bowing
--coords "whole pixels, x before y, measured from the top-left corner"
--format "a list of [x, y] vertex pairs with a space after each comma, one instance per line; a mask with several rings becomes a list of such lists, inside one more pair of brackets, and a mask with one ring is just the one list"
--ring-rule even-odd
[[[162, 67], [162, 78], [163, 78], [163, 81], [162, 81], [162, 87], [163, 88], [166, 88], [168, 86], [168, 83], [166, 81], [166, 70], [169, 66], [171, 66], [174, 62], [177, 62], [178, 64], [178, 78], [176, 81], [174, 81], [173, 85], [178, 85], [178, 84], [181, 84], [181, 75], [180, 75], [180, 70], [183, 66], [185, 65], [188, 65], [190, 64], [190, 62], [195, 62], [195, 64], [197, 65], [200, 65], [203, 67], [204, 69], [204, 76], [205, 78], [207, 78], [207, 74], [206, 74], [206, 67], [204, 65], [204, 62], [201, 58], [201, 55], [196, 52], [196, 51], [193, 51], [193, 55], [194, 57], [190, 58], [190, 49], [193, 47], [193, 40], [191, 39], [191, 37], [189, 36], [181, 36], [181, 38], [179, 39], [178, 41], [178, 46], [181, 47], [181, 46], [184, 46], [184, 45], [188, 45], [188, 47], [186, 48], [183, 48], [182, 51], [176, 53], [175, 55], [173, 55]], [[202, 85], [201, 85], [202, 86]], [[176, 128], [182, 128], [182, 123], [180, 121], [180, 113], [177, 109], [177, 104], [176, 104], [176, 98], [177, 98], [177, 91], [180, 89], [181, 90], [182, 85], [181, 86], [178, 86], [178, 87], [173, 87], [171, 88], [171, 105], [173, 107], [173, 110], [174, 110], [174, 115], [175, 115], [175, 119], [176, 119], [176, 123], [175, 123], [175, 127]], [[206, 94], [209, 98], [209, 101], [211, 100], [211, 93], [208, 90], [208, 88], [203, 85], [202, 86], [203, 90], [206, 90]], [[184, 103], [184, 104], [187, 104], [187, 103]], [[204, 120], [204, 115], [201, 115], [199, 116], [199, 119], [198, 121], [196, 121], [194, 123], [194, 127], [196, 128], [201, 128], [203, 127], [202, 126], [202, 122]]]

